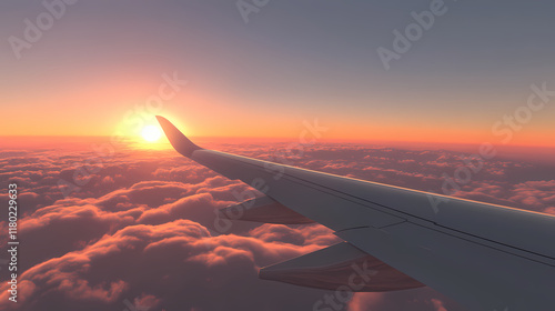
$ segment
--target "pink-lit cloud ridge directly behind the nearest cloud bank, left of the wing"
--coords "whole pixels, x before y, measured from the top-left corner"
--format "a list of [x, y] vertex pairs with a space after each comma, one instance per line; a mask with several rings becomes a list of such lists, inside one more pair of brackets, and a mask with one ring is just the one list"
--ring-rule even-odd
[[[46, 258], [61, 255], [74, 247], [87, 244], [105, 233], [113, 233], [131, 224], [159, 224], [175, 219], [190, 219], [211, 225], [215, 210], [225, 208], [233, 201], [216, 200], [210, 192], [203, 191], [210, 189], [214, 195], [220, 195], [221, 192], [229, 192], [229, 187], [236, 184], [223, 182], [221, 178], [209, 178], [194, 185], [149, 181], [112, 191], [99, 199], [59, 200], [21, 218], [20, 235], [30, 247], [30, 255], [21, 264], [29, 267]], [[199, 193], [195, 194], [196, 192]], [[226, 197], [232, 199], [231, 194]], [[168, 199], [172, 202], [164, 203]], [[246, 229], [244, 224], [235, 228]], [[52, 248], [40, 248], [43, 243], [49, 243]]]

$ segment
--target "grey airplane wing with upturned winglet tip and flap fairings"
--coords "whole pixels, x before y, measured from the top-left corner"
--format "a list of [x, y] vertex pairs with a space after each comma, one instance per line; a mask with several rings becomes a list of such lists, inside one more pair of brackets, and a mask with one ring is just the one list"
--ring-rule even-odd
[[157, 118], [179, 153], [265, 194], [222, 217], [319, 222], [345, 241], [263, 268], [262, 279], [351, 291], [428, 285], [468, 310], [555, 308], [555, 217], [205, 150]]

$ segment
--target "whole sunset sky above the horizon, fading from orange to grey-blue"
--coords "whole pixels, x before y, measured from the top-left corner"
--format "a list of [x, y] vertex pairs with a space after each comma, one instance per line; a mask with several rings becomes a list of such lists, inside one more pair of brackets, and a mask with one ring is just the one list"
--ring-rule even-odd
[[[426, 1], [87, 1], [67, 7], [17, 59], [41, 1], [0, 3], [2, 136], [110, 136], [162, 74], [189, 84], [160, 114], [200, 137], [295, 137], [303, 120], [330, 139], [500, 142], [492, 126], [555, 89], [553, 1], [453, 1], [385, 70], [376, 49]], [[509, 144], [555, 146], [555, 99]], [[137, 117], [137, 116], [135, 116]]]

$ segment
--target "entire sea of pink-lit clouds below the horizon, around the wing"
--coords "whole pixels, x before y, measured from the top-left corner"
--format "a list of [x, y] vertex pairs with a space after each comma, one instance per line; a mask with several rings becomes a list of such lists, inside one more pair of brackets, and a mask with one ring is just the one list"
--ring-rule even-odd
[[[215, 149], [436, 192], [442, 173], [452, 174], [463, 163], [460, 152], [445, 150], [325, 144], [287, 158], [272, 151], [281, 147]], [[121, 148], [64, 198], [58, 180], [71, 181], [90, 156], [87, 148], [0, 152], [0, 175], [18, 181], [22, 191], [21, 310], [312, 310], [325, 293], [261, 281], [256, 273], [337, 242], [329, 229], [233, 221], [219, 231], [215, 211], [236, 203], [233, 192], [249, 188], [173, 150]], [[456, 195], [555, 214], [553, 169], [539, 164], [492, 160]], [[6, 222], [0, 229], [6, 231]], [[369, 308], [463, 310], [431, 289], [356, 293], [349, 304], [349, 310]]]

